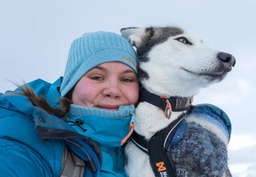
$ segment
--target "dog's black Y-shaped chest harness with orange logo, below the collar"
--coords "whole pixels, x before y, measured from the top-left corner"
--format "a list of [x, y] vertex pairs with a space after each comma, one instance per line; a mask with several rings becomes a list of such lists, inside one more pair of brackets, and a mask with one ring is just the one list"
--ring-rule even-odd
[[139, 135], [137, 132], [134, 132], [131, 137], [134, 144], [150, 156], [150, 165], [155, 176], [176, 176], [176, 170], [170, 157], [169, 147], [178, 125], [183, 120], [183, 116], [184, 115], [179, 116], [177, 120], [171, 122], [166, 128], [156, 132], [150, 140], [146, 140], [144, 136]]

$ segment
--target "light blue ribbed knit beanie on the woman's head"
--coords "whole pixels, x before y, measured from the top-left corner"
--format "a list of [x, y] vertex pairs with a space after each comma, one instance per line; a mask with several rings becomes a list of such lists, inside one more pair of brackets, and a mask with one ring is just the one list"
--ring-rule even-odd
[[137, 58], [133, 47], [117, 33], [85, 33], [75, 39], [66, 62], [61, 95], [65, 96], [80, 78], [96, 65], [109, 61], [120, 61], [137, 73]]

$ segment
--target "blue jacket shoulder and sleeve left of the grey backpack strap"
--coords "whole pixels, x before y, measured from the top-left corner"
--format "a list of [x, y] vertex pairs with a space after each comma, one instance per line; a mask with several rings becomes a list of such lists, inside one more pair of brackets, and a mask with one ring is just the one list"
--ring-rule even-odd
[[39, 140], [33, 113], [34, 106], [25, 96], [0, 95], [0, 169], [3, 174], [58, 176], [62, 169], [64, 142]]

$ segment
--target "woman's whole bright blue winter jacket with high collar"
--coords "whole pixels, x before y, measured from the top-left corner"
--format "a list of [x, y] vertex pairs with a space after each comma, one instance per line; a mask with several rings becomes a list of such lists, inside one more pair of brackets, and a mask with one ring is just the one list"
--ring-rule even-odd
[[[29, 85], [58, 107], [61, 82], [62, 77], [54, 84], [39, 79]], [[129, 132], [133, 112], [134, 106], [111, 112], [71, 105], [66, 122], [34, 106], [26, 96], [1, 93], [0, 176], [59, 176], [66, 147], [90, 161], [86, 177], [126, 176], [121, 140]], [[84, 124], [74, 126], [76, 120]]]

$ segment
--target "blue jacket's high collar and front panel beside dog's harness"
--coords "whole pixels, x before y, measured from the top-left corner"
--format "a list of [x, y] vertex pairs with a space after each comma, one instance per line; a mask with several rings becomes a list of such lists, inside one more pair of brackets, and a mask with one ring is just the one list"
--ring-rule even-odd
[[[84, 108], [71, 104], [67, 121], [72, 125], [76, 120], [83, 120], [82, 128], [74, 128], [83, 136], [91, 137], [98, 142], [102, 151], [102, 169], [99, 176], [126, 176], [124, 171], [124, 152], [122, 139], [130, 131], [130, 122], [134, 114], [134, 106], [122, 106], [117, 112]], [[106, 115], [108, 115], [106, 117]], [[122, 117], [122, 118], [121, 118]], [[86, 176], [90, 176], [86, 171]]]

